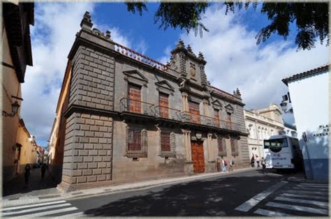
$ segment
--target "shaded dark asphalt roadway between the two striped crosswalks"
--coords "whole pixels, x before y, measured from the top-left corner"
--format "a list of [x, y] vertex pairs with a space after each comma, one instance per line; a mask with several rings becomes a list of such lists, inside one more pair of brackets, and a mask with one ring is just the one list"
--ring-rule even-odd
[[87, 216], [256, 216], [235, 211], [290, 174], [260, 170], [188, 183], [68, 200]]

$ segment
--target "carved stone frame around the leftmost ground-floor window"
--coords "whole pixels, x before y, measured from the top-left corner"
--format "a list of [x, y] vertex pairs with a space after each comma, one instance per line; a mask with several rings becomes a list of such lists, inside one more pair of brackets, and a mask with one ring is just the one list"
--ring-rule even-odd
[[[140, 130], [140, 136], [141, 136], [141, 149], [140, 151], [132, 151], [128, 150], [128, 141], [129, 141], [129, 130], [130, 128], [138, 129]], [[135, 124], [128, 124], [126, 126], [126, 141], [125, 141], [125, 153], [124, 156], [128, 158], [147, 158], [147, 149], [148, 149], [148, 134], [147, 134], [147, 128], [138, 126]]]

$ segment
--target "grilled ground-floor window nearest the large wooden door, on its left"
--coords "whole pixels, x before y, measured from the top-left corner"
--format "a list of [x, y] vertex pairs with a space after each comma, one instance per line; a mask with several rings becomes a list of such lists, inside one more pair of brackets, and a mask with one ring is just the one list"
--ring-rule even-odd
[[174, 157], [175, 156], [175, 133], [170, 130], [161, 130], [160, 137], [161, 156]]

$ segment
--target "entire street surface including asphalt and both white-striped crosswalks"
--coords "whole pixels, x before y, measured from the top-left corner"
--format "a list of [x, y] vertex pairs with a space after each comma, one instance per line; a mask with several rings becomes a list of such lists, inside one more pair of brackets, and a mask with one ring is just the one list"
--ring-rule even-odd
[[260, 169], [110, 195], [58, 199], [2, 210], [3, 216], [328, 216], [328, 184], [287, 181]]

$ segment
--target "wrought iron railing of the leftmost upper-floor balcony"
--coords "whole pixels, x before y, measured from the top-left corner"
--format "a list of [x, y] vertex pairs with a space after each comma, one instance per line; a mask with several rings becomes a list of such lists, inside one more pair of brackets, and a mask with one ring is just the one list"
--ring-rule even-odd
[[145, 114], [148, 116], [154, 116], [154, 105], [140, 100], [133, 100], [130, 98], [122, 98], [120, 102], [121, 112], [133, 112], [136, 114]]

